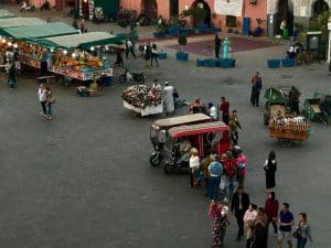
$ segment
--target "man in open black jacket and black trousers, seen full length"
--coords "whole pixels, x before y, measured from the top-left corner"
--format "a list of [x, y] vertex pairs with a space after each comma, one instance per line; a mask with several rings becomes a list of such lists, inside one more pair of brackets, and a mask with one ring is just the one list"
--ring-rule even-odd
[[236, 193], [234, 193], [231, 202], [231, 213], [235, 215], [238, 225], [237, 240], [244, 235], [244, 214], [249, 206], [249, 195], [244, 193], [244, 187], [238, 186]]

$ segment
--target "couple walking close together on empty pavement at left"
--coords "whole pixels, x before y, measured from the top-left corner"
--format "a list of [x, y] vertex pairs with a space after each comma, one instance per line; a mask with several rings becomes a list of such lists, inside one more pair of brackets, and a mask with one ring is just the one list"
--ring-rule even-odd
[[52, 120], [53, 119], [52, 105], [55, 101], [52, 89], [49, 86], [45, 86], [44, 84], [40, 84], [38, 89], [38, 98], [42, 106], [42, 111], [40, 114], [45, 119]]

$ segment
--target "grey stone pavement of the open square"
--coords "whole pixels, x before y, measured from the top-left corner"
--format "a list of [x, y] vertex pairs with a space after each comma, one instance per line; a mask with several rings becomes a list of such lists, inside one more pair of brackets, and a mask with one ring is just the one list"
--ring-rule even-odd
[[[284, 56], [285, 47], [278, 46], [276, 55]], [[313, 91], [331, 91], [331, 77], [327, 64], [269, 69], [266, 60], [274, 50], [238, 52], [231, 69], [196, 67], [194, 54], [188, 63], [177, 62], [167, 47], [169, 58], [158, 68], [146, 68], [141, 58], [125, 63], [146, 72], [147, 84], [169, 80], [188, 100], [200, 96], [216, 104], [226, 96], [243, 126], [239, 145], [248, 159], [246, 191], [252, 202], [265, 202], [261, 164], [275, 150], [277, 198], [289, 202], [296, 220], [299, 212], [308, 213], [312, 247], [325, 248], [331, 229], [330, 127], [311, 123], [308, 141], [281, 148], [263, 125], [264, 108], [248, 101], [255, 71], [261, 73], [264, 89], [296, 85], [302, 93], [301, 108]], [[115, 61], [114, 55], [109, 58]], [[0, 72], [0, 247], [211, 247], [209, 201], [201, 188], [189, 187], [185, 174], [166, 175], [162, 168], [149, 165], [149, 128], [162, 116], [137, 118], [122, 108], [120, 95], [129, 84], [117, 82], [121, 72], [115, 68], [114, 84], [95, 98], [81, 98], [74, 87], [52, 84], [53, 121], [39, 116], [32, 74], [18, 77], [18, 88], [10, 90]], [[186, 112], [181, 108], [177, 115]], [[229, 219], [225, 247], [245, 247], [244, 240], [235, 241], [236, 223]], [[268, 247], [275, 247], [271, 230]]]

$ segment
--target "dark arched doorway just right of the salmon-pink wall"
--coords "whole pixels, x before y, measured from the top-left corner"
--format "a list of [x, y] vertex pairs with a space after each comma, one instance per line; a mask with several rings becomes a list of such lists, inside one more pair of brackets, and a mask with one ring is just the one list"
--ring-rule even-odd
[[291, 35], [293, 31], [293, 3], [291, 0], [279, 0], [278, 2], [278, 13], [277, 13], [277, 34], [281, 34], [280, 23], [286, 21], [287, 29]]

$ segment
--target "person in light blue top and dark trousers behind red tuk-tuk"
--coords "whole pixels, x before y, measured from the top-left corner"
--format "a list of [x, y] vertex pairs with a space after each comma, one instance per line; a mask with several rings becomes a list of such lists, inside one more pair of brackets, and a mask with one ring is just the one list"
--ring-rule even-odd
[[218, 201], [220, 198], [220, 183], [223, 172], [223, 165], [218, 162], [220, 158], [215, 158], [215, 161], [209, 165], [209, 196], [210, 200]]

